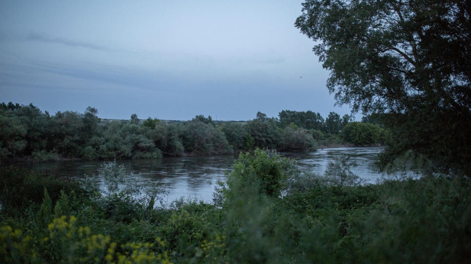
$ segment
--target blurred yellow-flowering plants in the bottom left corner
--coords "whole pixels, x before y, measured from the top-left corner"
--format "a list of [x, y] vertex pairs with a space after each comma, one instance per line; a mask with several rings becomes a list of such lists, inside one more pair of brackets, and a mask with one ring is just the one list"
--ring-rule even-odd
[[[69, 220], [67, 220], [69, 218]], [[54, 219], [48, 225], [48, 235], [41, 239], [41, 252], [30, 247], [31, 237], [21, 230], [6, 226], [0, 230], [0, 252], [5, 263], [170, 263], [165, 244], [126, 243], [118, 245], [110, 236], [93, 234], [88, 227], [78, 227], [74, 216]]]

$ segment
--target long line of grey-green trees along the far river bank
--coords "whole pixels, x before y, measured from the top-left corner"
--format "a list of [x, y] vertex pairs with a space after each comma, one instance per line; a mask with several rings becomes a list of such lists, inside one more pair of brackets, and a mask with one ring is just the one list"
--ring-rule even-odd
[[156, 118], [101, 122], [98, 110], [50, 115], [38, 107], [0, 105], [0, 159], [60, 158], [128, 159], [163, 155], [231, 154], [238, 150], [272, 148], [314, 150], [322, 145], [384, 143], [385, 131], [371, 123], [349, 122], [334, 112], [324, 118], [312, 111], [284, 110], [278, 118], [258, 112], [247, 122], [214, 122], [198, 115], [182, 123]]

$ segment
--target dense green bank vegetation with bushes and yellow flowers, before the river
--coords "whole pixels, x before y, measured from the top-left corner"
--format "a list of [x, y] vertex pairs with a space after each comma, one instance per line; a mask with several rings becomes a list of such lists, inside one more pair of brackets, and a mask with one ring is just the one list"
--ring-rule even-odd
[[[0, 173], [3, 263], [469, 263], [467, 178], [423, 176], [361, 184], [348, 157], [324, 176], [274, 151], [241, 154], [214, 204], [126, 184], [105, 163], [107, 187]], [[116, 186], [120, 188], [115, 188]], [[89, 186], [89, 187], [87, 187]], [[142, 186], [141, 186], [142, 187]], [[147, 190], [145, 196], [133, 196]], [[137, 199], [136, 197], [144, 197]]]

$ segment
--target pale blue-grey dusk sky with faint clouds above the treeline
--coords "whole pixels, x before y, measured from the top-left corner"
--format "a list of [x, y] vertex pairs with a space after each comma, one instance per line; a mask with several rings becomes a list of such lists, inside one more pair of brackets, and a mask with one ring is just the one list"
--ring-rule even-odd
[[0, 102], [98, 117], [334, 111], [301, 0], [2, 0]]

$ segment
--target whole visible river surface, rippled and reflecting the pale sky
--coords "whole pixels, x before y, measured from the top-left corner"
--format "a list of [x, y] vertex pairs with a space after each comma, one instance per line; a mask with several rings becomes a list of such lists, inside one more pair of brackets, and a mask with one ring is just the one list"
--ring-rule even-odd
[[[350, 154], [358, 166], [352, 168], [354, 174], [374, 183], [377, 179], [395, 176], [378, 172], [374, 158], [381, 151], [380, 147], [344, 147], [319, 149], [314, 152], [281, 153], [283, 157], [294, 158], [304, 171], [323, 174], [327, 164], [335, 157]], [[126, 170], [137, 176], [141, 182], [158, 182], [168, 191], [164, 202], [180, 198], [196, 198], [212, 202], [214, 186], [218, 180], [225, 180], [224, 171], [230, 170], [237, 156], [213, 157], [165, 157], [161, 159], [119, 160]], [[94, 176], [101, 181], [98, 168], [102, 161], [62, 161], [53, 163], [31, 163], [30, 168], [39, 173], [52, 173], [59, 176], [81, 178], [84, 175]]]

